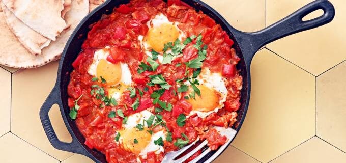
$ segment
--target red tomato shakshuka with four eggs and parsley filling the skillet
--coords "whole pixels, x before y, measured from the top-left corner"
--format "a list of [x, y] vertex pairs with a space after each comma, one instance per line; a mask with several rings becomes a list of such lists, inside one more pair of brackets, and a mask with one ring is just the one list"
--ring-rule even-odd
[[213, 127], [235, 124], [243, 79], [212, 18], [180, 0], [133, 0], [90, 28], [68, 85], [86, 146], [108, 162], [154, 163], [197, 138], [227, 142]]

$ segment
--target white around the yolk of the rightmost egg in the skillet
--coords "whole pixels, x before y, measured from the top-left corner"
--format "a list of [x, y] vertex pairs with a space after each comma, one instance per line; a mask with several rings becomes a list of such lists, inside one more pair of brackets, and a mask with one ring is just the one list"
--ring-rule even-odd
[[[199, 85], [204, 85], [210, 89], [214, 89], [215, 91], [219, 92], [221, 95], [219, 105], [214, 108], [213, 111], [209, 112], [202, 112], [202, 111], [196, 111], [192, 110], [188, 117], [197, 114], [198, 117], [205, 118], [208, 115], [212, 114], [213, 112], [217, 112], [224, 106], [224, 102], [226, 101], [226, 97], [228, 94], [228, 90], [225, 86], [225, 83], [223, 81], [221, 73], [212, 73], [208, 68], [203, 68], [201, 70], [201, 73], [197, 77]], [[189, 82], [185, 83], [186, 85], [190, 85]], [[196, 96], [198, 96], [196, 94]]]

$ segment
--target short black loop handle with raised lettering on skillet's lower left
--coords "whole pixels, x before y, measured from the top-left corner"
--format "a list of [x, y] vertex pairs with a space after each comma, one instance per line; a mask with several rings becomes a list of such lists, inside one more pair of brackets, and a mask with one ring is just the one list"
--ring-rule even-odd
[[40, 110], [41, 123], [43, 125], [44, 131], [46, 132], [49, 142], [56, 149], [73, 153], [85, 154], [84, 150], [81, 147], [81, 144], [78, 142], [76, 138], [73, 137], [73, 135], [71, 143], [61, 142], [59, 139], [57, 139], [55, 131], [51, 125], [48, 116], [48, 112], [50, 111], [50, 108], [53, 104], [58, 104], [60, 108], [63, 107], [60, 98], [60, 89], [57, 86], [55, 86], [53, 90], [50, 92], [49, 96], [47, 97], [46, 101], [44, 101]]

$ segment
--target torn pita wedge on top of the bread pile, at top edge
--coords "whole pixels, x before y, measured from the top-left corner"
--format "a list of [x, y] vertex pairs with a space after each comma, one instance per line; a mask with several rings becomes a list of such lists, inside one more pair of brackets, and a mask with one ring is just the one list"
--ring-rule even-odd
[[27, 26], [55, 41], [65, 28], [61, 17], [64, 0], [3, 0], [7, 8]]

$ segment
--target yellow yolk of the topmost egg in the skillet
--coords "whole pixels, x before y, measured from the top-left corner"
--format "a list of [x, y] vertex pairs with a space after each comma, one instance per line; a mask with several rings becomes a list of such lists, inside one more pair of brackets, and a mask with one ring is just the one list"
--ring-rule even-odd
[[156, 28], [151, 28], [147, 33], [148, 44], [158, 52], [162, 52], [164, 44], [174, 42], [179, 37], [179, 31], [175, 25], [163, 23]]

